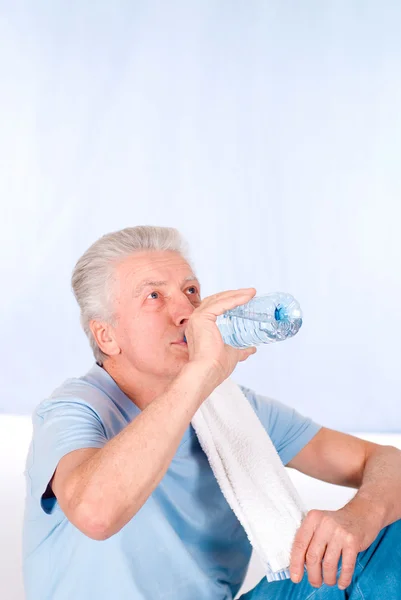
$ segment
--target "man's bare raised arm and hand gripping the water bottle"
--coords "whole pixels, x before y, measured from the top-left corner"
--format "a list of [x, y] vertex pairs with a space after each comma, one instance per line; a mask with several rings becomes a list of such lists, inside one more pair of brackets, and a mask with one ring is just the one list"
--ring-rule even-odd
[[104, 540], [132, 519], [166, 473], [202, 402], [256, 352], [225, 344], [216, 325], [218, 315], [255, 292], [229, 290], [202, 300], [185, 329], [188, 362], [167, 390], [102, 448], [76, 450], [59, 461], [52, 489], [83, 533]]

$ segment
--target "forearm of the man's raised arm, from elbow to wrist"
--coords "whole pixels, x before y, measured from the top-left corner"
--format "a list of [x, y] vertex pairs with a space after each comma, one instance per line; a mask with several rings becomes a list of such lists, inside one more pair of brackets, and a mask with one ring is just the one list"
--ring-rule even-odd
[[70, 508], [85, 533], [106, 539], [138, 512], [209, 394], [203, 374], [186, 365], [164, 394], [80, 466]]

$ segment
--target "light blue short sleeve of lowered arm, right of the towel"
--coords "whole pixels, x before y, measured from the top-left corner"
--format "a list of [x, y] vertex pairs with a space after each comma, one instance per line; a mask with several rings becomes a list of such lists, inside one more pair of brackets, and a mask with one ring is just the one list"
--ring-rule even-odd
[[278, 400], [239, 387], [269, 434], [283, 465], [287, 465], [322, 427]]

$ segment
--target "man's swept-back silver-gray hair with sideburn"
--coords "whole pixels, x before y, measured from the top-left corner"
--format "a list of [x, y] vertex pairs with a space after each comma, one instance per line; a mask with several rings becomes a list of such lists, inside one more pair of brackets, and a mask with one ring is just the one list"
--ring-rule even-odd
[[71, 285], [80, 308], [80, 321], [93, 355], [100, 365], [107, 355], [97, 345], [89, 327], [92, 319], [114, 324], [113, 276], [122, 260], [146, 250], [180, 254], [193, 268], [187, 241], [173, 227], [140, 225], [108, 233], [86, 250], [74, 267]]

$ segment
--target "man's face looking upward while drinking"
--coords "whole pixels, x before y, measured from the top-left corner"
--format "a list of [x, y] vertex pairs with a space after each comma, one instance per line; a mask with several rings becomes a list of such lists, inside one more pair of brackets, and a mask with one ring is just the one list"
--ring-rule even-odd
[[[155, 283], [149, 283], [155, 282]], [[201, 302], [200, 284], [176, 252], [141, 252], [116, 269], [114, 332], [123, 364], [171, 379], [188, 362], [187, 322]]]

